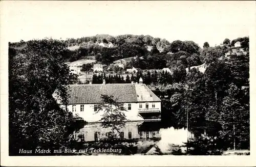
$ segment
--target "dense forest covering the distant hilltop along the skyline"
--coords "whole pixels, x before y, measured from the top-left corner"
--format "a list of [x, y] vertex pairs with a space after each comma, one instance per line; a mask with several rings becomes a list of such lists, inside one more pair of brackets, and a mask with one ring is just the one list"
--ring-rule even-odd
[[[231, 50], [234, 43], [241, 42], [242, 47], [248, 48], [249, 38], [237, 38], [230, 42], [223, 41], [221, 49]], [[73, 62], [79, 59], [95, 57], [101, 64], [110, 65], [116, 60], [131, 58], [131, 62], [125, 65], [126, 68], [140, 69], [162, 69], [165, 67], [175, 68], [180, 65], [185, 67], [201, 65], [206, 60], [206, 50], [214, 50], [216, 47], [209, 47], [205, 42], [203, 48], [193, 41], [175, 40], [169, 42], [165, 39], [154, 38], [150, 35], [96, 35], [77, 39], [61, 40], [67, 48], [63, 52], [63, 59]], [[100, 45], [102, 44], [102, 45]], [[109, 47], [111, 45], [111, 47]], [[11, 47], [26, 47], [25, 41], [9, 43]], [[104, 46], [103, 46], [104, 45]], [[149, 49], [148, 49], [149, 48]]]

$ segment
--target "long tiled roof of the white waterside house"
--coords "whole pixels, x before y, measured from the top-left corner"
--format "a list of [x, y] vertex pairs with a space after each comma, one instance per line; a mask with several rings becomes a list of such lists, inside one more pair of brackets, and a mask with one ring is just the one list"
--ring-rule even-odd
[[[139, 88], [139, 89], [138, 89]], [[142, 90], [142, 91], [138, 91]], [[112, 95], [117, 102], [161, 101], [144, 84], [87, 84], [69, 86], [68, 104], [102, 103], [101, 94]], [[143, 99], [138, 98], [141, 95]], [[152, 95], [152, 97], [151, 97]]]

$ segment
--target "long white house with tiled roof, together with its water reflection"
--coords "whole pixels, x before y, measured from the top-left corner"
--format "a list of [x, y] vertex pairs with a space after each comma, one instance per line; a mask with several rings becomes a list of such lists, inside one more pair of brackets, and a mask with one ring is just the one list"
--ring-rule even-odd
[[111, 131], [100, 126], [99, 120], [103, 112], [96, 114], [97, 105], [103, 103], [102, 94], [112, 95], [125, 108], [123, 113], [127, 121], [120, 130], [120, 137], [161, 137], [158, 128], [161, 121], [161, 100], [142, 83], [142, 79], [139, 84], [105, 84], [103, 81], [103, 84], [70, 85], [69, 91], [68, 104], [60, 106], [87, 122], [78, 133], [74, 133], [76, 140], [80, 136], [81, 141], [99, 141]]

